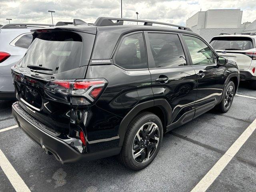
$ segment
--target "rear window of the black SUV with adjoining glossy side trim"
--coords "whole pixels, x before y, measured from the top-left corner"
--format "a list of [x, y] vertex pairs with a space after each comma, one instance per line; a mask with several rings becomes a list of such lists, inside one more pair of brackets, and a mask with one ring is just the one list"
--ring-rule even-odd
[[[94, 41], [92, 36], [94, 35], [83, 35], [83, 40], [86, 41], [84, 55], [86, 55], [85, 60], [88, 61]], [[82, 46], [81, 36], [74, 32], [42, 32], [32, 41], [20, 65], [47, 68], [49, 70], [37, 70], [37, 72], [46, 74], [58, 74], [72, 70], [80, 66]]]

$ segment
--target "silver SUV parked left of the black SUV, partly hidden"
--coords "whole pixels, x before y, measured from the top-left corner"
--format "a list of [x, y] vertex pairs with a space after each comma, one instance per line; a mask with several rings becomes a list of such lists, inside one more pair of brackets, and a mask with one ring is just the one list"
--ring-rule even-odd
[[7, 24], [0, 28], [0, 100], [14, 99], [11, 67], [26, 53], [32, 42], [31, 29], [48, 24]]

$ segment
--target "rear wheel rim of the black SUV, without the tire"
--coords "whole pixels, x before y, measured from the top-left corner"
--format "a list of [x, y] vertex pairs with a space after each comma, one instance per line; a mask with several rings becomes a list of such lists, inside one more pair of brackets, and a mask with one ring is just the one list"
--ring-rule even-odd
[[159, 128], [153, 122], [148, 122], [140, 127], [132, 145], [132, 157], [137, 163], [150, 160], [156, 152], [159, 136]]

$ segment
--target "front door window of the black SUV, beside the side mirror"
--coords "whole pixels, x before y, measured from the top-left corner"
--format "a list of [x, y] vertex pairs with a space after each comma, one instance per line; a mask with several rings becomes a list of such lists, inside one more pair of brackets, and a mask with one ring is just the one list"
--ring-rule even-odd
[[196, 37], [183, 35], [183, 38], [188, 46], [193, 65], [214, 64], [216, 56], [208, 45]]

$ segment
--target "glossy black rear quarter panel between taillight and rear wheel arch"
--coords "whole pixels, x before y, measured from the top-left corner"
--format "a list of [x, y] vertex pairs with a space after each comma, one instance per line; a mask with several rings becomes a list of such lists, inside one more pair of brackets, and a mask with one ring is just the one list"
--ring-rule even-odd
[[88, 107], [85, 129], [88, 140], [94, 143], [90, 144], [90, 152], [118, 147], [118, 133], [124, 116], [136, 104], [153, 100], [150, 72], [126, 71], [113, 64], [89, 65], [86, 78], [105, 78], [108, 81], [96, 104]]

